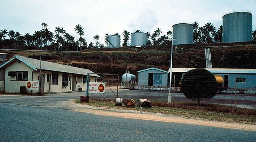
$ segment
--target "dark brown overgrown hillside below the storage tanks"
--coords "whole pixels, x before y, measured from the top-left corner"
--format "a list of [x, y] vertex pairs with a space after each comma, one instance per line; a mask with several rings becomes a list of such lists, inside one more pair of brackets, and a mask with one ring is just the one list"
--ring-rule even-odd
[[[201, 44], [179, 45], [173, 52], [173, 67], [205, 68], [204, 46], [211, 49], [213, 68], [256, 68], [256, 44]], [[230, 47], [226, 47], [230, 46]], [[122, 48], [89, 48], [83, 52], [46, 52], [42, 51], [42, 60], [60, 64], [87, 68], [95, 73], [119, 74], [126, 70], [137, 75], [138, 70], [156, 67], [168, 70], [170, 66], [170, 46], [146, 46]], [[175, 47], [174, 47], [175, 48]], [[40, 59], [40, 52], [0, 51], [8, 53], [7, 59], [18, 54]]]

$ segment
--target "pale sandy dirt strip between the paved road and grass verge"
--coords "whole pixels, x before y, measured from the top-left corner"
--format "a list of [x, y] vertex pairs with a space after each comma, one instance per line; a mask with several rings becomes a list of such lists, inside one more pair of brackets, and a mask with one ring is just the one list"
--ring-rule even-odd
[[103, 108], [103, 107], [92, 107], [86, 104], [76, 104], [74, 102], [72, 103], [73, 103], [73, 106], [71, 108], [73, 111], [92, 113], [95, 115], [256, 131], [256, 125], [194, 120], [194, 119], [176, 117], [172, 115], [163, 115], [159, 113], [141, 112], [141, 111], [134, 111], [134, 110], [121, 110], [121, 109]]

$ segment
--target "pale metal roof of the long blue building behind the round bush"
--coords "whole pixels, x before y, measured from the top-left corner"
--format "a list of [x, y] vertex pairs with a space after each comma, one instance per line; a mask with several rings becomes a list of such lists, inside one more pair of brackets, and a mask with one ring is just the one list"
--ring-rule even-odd
[[[195, 68], [172, 68], [172, 72], [188, 72]], [[227, 69], [227, 68], [205, 68], [211, 73], [238, 73], [256, 74], [256, 69]], [[170, 69], [169, 69], [170, 72]]]

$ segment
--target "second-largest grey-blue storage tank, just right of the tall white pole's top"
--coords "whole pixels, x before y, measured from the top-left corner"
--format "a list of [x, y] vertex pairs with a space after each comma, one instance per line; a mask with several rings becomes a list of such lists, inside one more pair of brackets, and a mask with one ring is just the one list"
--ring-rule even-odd
[[193, 25], [190, 23], [177, 23], [173, 25], [173, 45], [193, 44]]

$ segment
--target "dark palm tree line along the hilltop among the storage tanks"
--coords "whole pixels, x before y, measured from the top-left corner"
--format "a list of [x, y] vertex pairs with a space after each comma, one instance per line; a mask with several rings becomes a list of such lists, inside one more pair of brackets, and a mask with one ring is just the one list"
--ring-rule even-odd
[[[69, 51], [81, 51], [85, 48], [104, 48], [108, 47], [109, 43], [109, 34], [105, 34], [105, 43], [99, 43], [100, 36], [96, 34], [93, 39], [95, 40], [95, 44], [90, 42], [87, 44], [86, 39], [83, 37], [85, 34], [84, 28], [78, 24], [75, 25], [74, 31], [77, 33], [77, 38], [71, 36], [66, 32], [63, 27], [56, 27], [54, 32], [51, 32], [49, 28], [44, 28], [40, 31], [35, 31], [33, 34], [26, 33], [22, 35], [19, 32], [15, 32], [13, 30], [0, 30], [0, 46], [2, 48], [6, 48], [7, 44], [15, 43], [17, 46], [24, 47], [40, 47], [41, 44], [43, 48], [51, 49], [51, 50], [69, 50]], [[140, 30], [136, 30], [134, 32], [141, 32]], [[162, 29], [157, 28], [154, 32], [146, 32], [147, 33], [147, 45], [168, 45], [169, 41], [165, 39], [172, 38], [172, 31], [167, 31], [166, 34], [162, 35]], [[120, 36], [119, 33], [115, 33], [114, 35]], [[7, 39], [6, 37], [9, 37]], [[123, 47], [129, 46], [129, 40], [131, 37], [131, 33], [127, 30], [124, 30], [122, 33], [123, 36]], [[42, 38], [42, 39], [41, 39]], [[42, 43], [41, 43], [42, 41]], [[204, 26], [199, 27], [198, 22], [193, 23], [193, 41], [194, 44], [199, 43], [221, 43], [222, 42], [222, 25], [216, 27], [212, 25], [212, 23], [206, 23]], [[256, 41], [256, 30], [252, 32], [252, 41]], [[121, 42], [121, 41], [120, 41]]]

